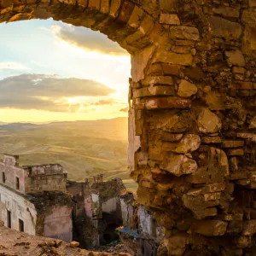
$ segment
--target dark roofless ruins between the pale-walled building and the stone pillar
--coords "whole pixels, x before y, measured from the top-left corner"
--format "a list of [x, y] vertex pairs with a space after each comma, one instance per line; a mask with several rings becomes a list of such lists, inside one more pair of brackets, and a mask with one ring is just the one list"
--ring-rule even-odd
[[67, 181], [73, 195], [73, 238], [88, 249], [120, 238], [131, 255], [156, 256], [163, 228], [153, 213], [137, 204], [120, 178], [94, 180]]

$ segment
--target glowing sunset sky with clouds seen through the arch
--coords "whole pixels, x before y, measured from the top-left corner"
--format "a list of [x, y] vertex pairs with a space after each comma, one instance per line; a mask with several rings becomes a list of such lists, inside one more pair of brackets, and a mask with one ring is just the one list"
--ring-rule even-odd
[[0, 122], [127, 116], [130, 55], [54, 20], [0, 24]]

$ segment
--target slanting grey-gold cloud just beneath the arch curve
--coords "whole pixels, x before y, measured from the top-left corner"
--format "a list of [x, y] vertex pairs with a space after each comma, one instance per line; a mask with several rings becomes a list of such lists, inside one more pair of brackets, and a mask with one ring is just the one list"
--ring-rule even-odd
[[111, 41], [101, 32], [94, 32], [88, 28], [60, 23], [52, 26], [51, 32], [56, 38], [87, 51], [96, 51], [104, 55], [129, 55], [119, 44]]

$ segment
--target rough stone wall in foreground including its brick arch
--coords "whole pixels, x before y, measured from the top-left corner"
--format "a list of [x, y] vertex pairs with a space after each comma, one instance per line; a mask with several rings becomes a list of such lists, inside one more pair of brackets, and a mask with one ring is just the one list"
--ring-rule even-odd
[[52, 17], [131, 53], [131, 177], [159, 253], [253, 255], [256, 1], [1, 1], [3, 22]]

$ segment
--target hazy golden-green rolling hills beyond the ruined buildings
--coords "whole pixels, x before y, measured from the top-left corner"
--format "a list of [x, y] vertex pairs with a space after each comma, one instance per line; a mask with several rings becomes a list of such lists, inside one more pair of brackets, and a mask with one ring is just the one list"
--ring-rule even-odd
[[127, 170], [127, 127], [127, 118], [2, 124], [0, 153], [19, 154], [21, 165], [59, 163], [76, 181], [98, 173], [121, 177], [135, 191]]

